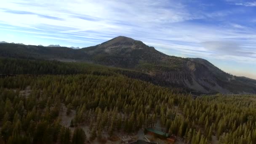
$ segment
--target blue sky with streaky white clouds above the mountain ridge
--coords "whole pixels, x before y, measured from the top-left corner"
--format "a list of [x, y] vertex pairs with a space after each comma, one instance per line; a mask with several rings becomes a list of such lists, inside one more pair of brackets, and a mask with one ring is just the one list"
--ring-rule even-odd
[[0, 41], [80, 48], [117, 36], [256, 79], [256, 0], [3, 0]]

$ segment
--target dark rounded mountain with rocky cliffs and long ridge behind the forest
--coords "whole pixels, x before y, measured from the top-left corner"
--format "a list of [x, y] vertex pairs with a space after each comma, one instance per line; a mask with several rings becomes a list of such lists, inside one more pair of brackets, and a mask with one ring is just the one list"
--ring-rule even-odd
[[256, 80], [230, 75], [205, 59], [168, 56], [123, 36], [81, 49], [0, 43], [0, 56], [82, 61], [131, 69], [154, 79], [158, 85], [200, 93], [256, 93]]

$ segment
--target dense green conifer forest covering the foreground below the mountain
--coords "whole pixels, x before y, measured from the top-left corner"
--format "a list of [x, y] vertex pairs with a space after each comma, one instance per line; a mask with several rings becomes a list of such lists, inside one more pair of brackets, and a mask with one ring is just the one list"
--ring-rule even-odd
[[[190, 144], [211, 143], [212, 136], [221, 144], [256, 143], [253, 95], [194, 97], [128, 77], [136, 71], [94, 64], [1, 59], [0, 66], [8, 74], [0, 77], [2, 143], [83, 144], [157, 122]], [[64, 108], [74, 114], [69, 125]]]

